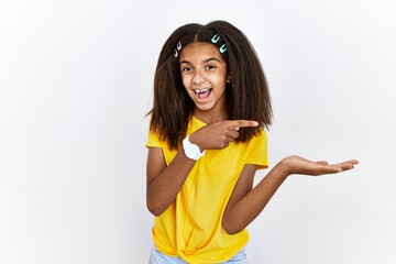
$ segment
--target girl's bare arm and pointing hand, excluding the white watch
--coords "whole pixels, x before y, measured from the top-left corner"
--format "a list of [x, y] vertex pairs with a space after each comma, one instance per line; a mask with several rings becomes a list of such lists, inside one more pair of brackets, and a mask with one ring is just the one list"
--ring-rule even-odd
[[[221, 150], [238, 138], [240, 128], [256, 125], [246, 120], [217, 122], [194, 132], [190, 141], [201, 150]], [[180, 148], [167, 166], [162, 148], [148, 147], [146, 205], [154, 216], [160, 216], [174, 202], [195, 163]]]

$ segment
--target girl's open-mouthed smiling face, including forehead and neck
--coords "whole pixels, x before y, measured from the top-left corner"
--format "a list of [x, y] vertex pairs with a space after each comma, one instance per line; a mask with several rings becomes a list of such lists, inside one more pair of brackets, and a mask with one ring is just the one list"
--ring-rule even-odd
[[218, 48], [204, 42], [189, 44], [179, 62], [183, 85], [196, 105], [195, 116], [224, 118], [228, 74]]

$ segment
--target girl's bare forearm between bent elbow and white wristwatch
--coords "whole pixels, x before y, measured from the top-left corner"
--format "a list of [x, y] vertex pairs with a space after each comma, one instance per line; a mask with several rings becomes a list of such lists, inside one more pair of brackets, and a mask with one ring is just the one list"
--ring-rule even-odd
[[162, 215], [174, 202], [195, 163], [182, 150], [160, 175], [147, 183], [146, 202], [154, 216]]

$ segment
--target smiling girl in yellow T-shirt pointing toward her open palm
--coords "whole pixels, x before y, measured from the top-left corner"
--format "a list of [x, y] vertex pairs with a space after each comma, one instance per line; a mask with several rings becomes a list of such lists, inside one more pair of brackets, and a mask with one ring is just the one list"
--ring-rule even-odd
[[289, 175], [358, 164], [289, 156], [253, 187], [255, 172], [267, 167], [270, 94], [254, 48], [224, 21], [173, 32], [160, 54], [150, 117], [152, 264], [246, 263], [245, 228]]

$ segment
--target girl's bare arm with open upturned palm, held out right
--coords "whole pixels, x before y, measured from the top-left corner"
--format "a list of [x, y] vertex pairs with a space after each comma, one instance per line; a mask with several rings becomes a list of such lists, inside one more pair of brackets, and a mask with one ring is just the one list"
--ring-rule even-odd
[[265, 208], [283, 182], [292, 174], [311, 176], [336, 174], [352, 169], [355, 164], [358, 164], [358, 161], [354, 160], [329, 165], [327, 162], [311, 162], [299, 156], [289, 156], [276, 164], [253, 189], [256, 166], [248, 164], [243, 168], [226, 207], [222, 226], [230, 234], [245, 229]]

